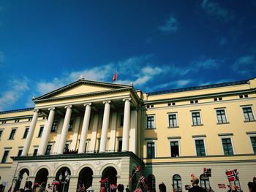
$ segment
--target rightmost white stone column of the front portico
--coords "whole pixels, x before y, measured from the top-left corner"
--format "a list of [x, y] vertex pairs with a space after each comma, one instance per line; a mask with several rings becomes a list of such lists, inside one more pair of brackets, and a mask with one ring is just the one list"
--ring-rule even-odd
[[129, 150], [129, 121], [130, 121], [130, 105], [131, 99], [123, 99], [124, 102], [124, 126], [123, 126], [123, 143], [121, 151]]

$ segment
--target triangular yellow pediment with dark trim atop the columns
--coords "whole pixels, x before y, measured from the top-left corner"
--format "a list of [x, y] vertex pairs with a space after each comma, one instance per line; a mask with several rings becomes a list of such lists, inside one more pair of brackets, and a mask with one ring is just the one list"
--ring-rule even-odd
[[82, 94], [90, 93], [108, 93], [110, 91], [116, 91], [118, 89], [132, 88], [131, 85], [120, 85], [109, 82], [96, 82], [89, 80], [78, 80], [59, 88], [55, 91], [47, 93], [43, 96], [39, 96], [34, 101], [44, 99], [58, 99], [69, 96], [79, 96]]

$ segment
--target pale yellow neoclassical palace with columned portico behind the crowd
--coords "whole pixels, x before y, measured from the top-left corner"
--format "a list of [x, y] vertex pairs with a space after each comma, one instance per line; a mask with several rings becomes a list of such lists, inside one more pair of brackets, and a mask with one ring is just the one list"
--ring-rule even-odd
[[33, 101], [0, 112], [5, 191], [29, 181], [48, 191], [53, 181], [60, 191], [81, 183], [99, 191], [105, 177], [132, 190], [140, 174], [156, 191], [162, 182], [186, 191], [191, 174], [223, 191], [218, 184], [230, 185], [225, 172], [234, 169], [246, 191], [256, 176], [256, 78], [153, 93], [80, 78]]

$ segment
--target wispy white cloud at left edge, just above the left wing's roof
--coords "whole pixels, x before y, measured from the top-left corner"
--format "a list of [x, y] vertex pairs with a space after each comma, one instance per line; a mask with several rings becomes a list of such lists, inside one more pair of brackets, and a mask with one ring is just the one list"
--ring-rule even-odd
[[10, 109], [12, 104], [15, 104], [20, 96], [23, 96], [25, 91], [29, 90], [29, 80], [26, 77], [23, 79], [12, 79], [9, 82], [9, 91], [5, 91], [1, 93], [0, 96], [0, 111]]

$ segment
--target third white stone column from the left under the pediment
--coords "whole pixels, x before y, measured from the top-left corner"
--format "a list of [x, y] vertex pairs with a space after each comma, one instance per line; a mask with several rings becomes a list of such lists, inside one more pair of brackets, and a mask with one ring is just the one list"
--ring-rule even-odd
[[57, 151], [58, 154], [63, 154], [63, 151], [64, 151], [65, 142], [67, 140], [67, 129], [69, 128], [69, 122], [70, 122], [70, 117], [71, 117], [71, 112], [72, 112], [71, 107], [72, 107], [72, 105], [65, 107], [67, 109], [67, 111], [66, 111], [66, 115], [64, 118], [62, 131], [61, 131], [61, 139], [60, 139], [58, 151]]

